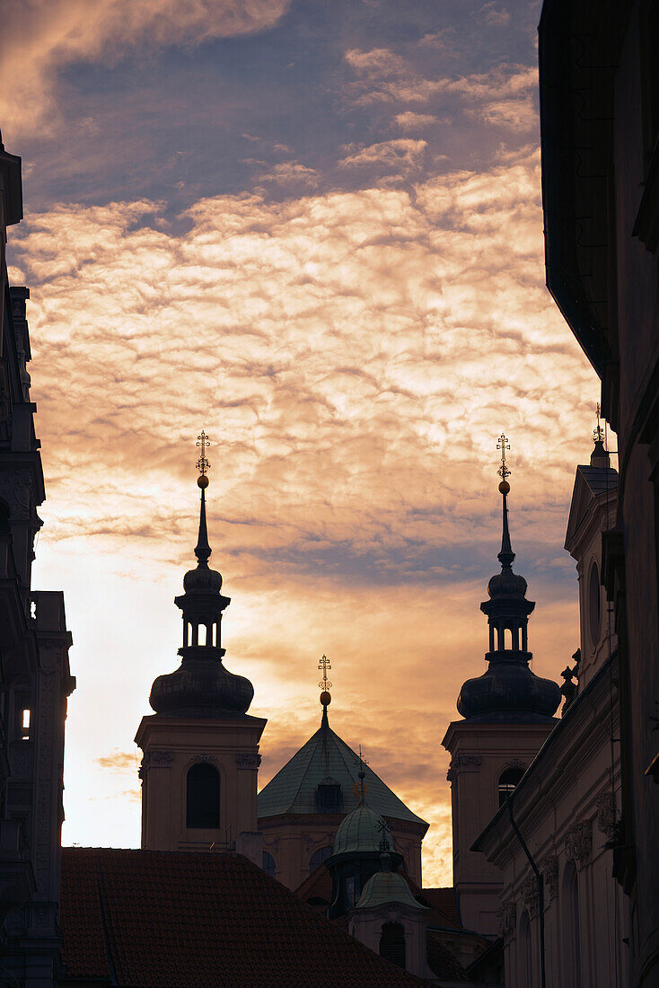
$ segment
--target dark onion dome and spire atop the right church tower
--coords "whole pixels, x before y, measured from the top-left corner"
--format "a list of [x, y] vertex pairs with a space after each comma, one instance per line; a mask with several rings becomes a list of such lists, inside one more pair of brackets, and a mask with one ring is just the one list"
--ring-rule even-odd
[[487, 586], [488, 601], [480, 605], [489, 624], [489, 651], [485, 654], [487, 672], [462, 685], [457, 709], [467, 719], [500, 722], [535, 722], [546, 720], [560, 702], [558, 686], [540, 679], [529, 667], [533, 654], [528, 645], [529, 616], [535, 602], [527, 600], [527, 581], [513, 572], [515, 553], [508, 527], [508, 495], [510, 470], [506, 451], [510, 446], [506, 436], [499, 437], [501, 477], [499, 491], [503, 498], [503, 528], [498, 559], [501, 572]]

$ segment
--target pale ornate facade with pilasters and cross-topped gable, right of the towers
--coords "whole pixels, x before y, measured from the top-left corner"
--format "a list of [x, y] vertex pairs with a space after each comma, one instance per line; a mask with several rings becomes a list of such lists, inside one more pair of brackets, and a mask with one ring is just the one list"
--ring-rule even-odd
[[[577, 467], [565, 547], [579, 574], [580, 646], [562, 717], [474, 844], [503, 876], [506, 988], [624, 988], [629, 903], [613, 877], [620, 806], [618, 642], [600, 583], [618, 473], [596, 433]], [[576, 682], [575, 682], [576, 679]]]

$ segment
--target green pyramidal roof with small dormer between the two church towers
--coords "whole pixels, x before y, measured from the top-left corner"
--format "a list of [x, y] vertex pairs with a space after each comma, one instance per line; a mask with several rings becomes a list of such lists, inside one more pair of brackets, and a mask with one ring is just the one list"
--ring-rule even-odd
[[[360, 801], [360, 771], [359, 756], [323, 717], [316, 733], [259, 792], [259, 819], [283, 813], [315, 813], [316, 788], [325, 780], [341, 783], [343, 812], [350, 813]], [[408, 809], [368, 765], [364, 765], [363, 771], [371, 809], [381, 816], [420, 823], [428, 828], [426, 821]]]

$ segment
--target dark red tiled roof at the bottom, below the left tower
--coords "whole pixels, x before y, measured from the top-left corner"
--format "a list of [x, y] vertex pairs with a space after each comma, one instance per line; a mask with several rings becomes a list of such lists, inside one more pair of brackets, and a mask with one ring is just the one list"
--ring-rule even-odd
[[240, 855], [64, 848], [69, 978], [123, 988], [413, 988]]

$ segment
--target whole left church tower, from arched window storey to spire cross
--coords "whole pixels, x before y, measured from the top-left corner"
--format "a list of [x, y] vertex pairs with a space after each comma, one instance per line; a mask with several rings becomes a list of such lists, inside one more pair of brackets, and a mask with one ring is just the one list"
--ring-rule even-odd
[[135, 742], [144, 757], [142, 840], [148, 851], [237, 850], [262, 864], [257, 831], [259, 740], [266, 721], [247, 713], [249, 680], [223, 665], [222, 613], [230, 599], [208, 567], [206, 433], [198, 463], [202, 491], [197, 567], [186, 573], [174, 603], [183, 613], [181, 666], [158, 676]]

